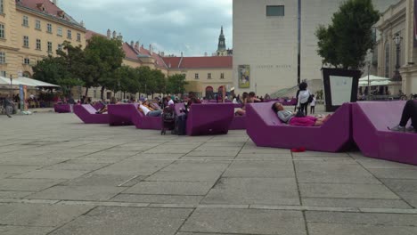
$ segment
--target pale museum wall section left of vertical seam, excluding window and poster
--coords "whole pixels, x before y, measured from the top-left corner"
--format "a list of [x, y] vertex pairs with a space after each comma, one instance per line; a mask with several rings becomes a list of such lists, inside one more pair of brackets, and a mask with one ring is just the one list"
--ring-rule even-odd
[[[266, 5], [285, 16], [267, 17]], [[233, 0], [233, 85], [236, 93], [274, 93], [297, 85], [297, 1]], [[249, 65], [250, 87], [239, 88], [238, 67]]]

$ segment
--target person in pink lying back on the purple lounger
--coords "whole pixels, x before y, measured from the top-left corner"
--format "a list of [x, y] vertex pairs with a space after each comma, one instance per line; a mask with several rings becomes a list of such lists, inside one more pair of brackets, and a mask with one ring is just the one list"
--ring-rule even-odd
[[331, 118], [331, 114], [325, 117], [313, 117], [304, 115], [302, 111], [291, 112], [285, 110], [280, 102], [275, 102], [272, 109], [283, 123], [290, 126], [322, 126], [329, 118]]

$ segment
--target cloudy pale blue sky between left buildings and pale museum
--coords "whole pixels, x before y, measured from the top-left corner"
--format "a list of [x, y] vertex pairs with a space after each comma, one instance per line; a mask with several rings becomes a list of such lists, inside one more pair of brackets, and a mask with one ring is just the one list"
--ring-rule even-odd
[[156, 52], [199, 56], [216, 52], [222, 25], [226, 46], [233, 47], [232, 1], [58, 0], [58, 6], [95, 32], [110, 28]]

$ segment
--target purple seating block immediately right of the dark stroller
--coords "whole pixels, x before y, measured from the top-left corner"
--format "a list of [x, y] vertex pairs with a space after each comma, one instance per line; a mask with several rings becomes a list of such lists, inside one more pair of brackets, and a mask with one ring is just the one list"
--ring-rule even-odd
[[233, 116], [233, 103], [192, 104], [187, 135], [227, 134]]

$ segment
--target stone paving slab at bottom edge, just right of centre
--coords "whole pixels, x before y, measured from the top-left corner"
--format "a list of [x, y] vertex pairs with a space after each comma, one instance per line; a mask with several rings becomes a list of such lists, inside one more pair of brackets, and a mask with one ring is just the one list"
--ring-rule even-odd
[[198, 208], [180, 231], [244, 234], [307, 234], [301, 212]]

